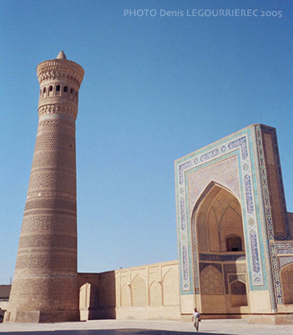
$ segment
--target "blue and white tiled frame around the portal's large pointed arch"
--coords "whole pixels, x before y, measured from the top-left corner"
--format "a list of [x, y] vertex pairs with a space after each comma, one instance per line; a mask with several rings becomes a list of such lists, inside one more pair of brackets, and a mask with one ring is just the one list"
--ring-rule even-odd
[[[208, 147], [195, 151], [176, 161], [180, 288], [183, 295], [193, 294], [194, 287], [199, 288], [196, 218], [195, 216], [191, 218], [192, 213], [190, 212], [190, 208], [192, 208], [193, 204], [189, 204], [187, 177], [196, 170], [206, 168], [231, 156], [236, 156], [238, 162], [250, 290], [267, 289], [264, 246], [258, 203], [259, 195], [257, 193], [257, 173], [255, 172], [255, 156], [253, 154], [255, 143], [252, 142], [252, 131], [254, 129], [255, 126], [245, 128], [242, 131], [238, 131], [238, 133], [225, 137], [210, 144]], [[210, 184], [210, 188], [212, 187], [213, 184]], [[202, 198], [204, 198], [204, 195]], [[195, 209], [196, 206], [194, 207], [194, 211]], [[196, 293], [199, 293], [199, 289], [197, 290]]]

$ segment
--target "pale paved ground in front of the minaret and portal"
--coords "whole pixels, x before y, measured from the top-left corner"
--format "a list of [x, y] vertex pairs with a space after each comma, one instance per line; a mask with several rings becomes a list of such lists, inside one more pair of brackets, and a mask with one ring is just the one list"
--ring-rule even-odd
[[[55, 324], [0, 324], [1, 335], [191, 335], [192, 322], [91, 320]], [[202, 320], [197, 334], [292, 335], [292, 325], [250, 325], [245, 320]]]

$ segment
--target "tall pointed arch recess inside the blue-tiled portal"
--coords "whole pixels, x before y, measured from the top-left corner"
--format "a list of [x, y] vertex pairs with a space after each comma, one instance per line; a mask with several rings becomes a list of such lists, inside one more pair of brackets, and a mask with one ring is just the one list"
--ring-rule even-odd
[[[245, 238], [236, 196], [212, 181], [194, 206], [191, 225], [197, 307], [202, 313], [236, 313], [248, 306]], [[236, 287], [241, 294], [234, 294]]]

